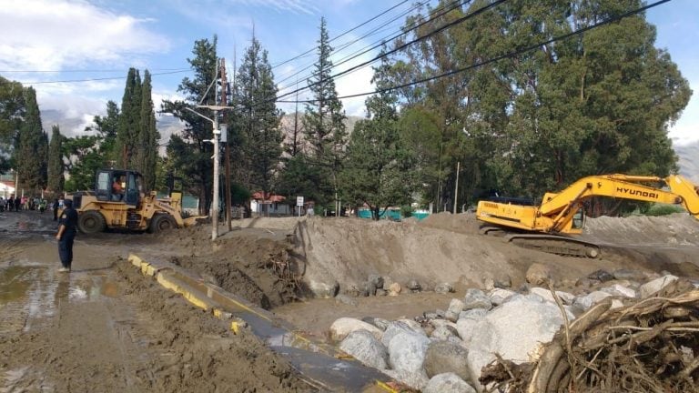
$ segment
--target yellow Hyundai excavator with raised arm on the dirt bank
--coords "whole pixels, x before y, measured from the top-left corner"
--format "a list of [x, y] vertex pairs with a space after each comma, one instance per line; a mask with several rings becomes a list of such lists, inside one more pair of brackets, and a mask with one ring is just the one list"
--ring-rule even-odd
[[545, 193], [539, 206], [518, 198], [481, 200], [476, 218], [486, 223], [481, 234], [504, 235], [519, 246], [552, 254], [598, 257], [599, 246], [571, 237], [582, 233], [582, 204], [593, 196], [679, 205], [699, 219], [699, 187], [679, 175], [583, 177], [561, 192]]

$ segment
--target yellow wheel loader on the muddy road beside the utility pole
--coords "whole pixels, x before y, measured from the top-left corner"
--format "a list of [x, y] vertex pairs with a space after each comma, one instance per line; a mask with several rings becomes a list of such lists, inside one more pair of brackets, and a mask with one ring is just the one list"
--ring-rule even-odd
[[[96, 173], [95, 189], [66, 196], [77, 210], [80, 232], [93, 234], [106, 228], [157, 233], [185, 227], [182, 218], [182, 179], [170, 176], [166, 198], [143, 192], [143, 176], [127, 169]], [[188, 224], [188, 222], [187, 222]]]

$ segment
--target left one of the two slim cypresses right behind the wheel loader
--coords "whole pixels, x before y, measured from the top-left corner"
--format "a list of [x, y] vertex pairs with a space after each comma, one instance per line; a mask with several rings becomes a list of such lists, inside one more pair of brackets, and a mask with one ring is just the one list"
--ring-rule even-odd
[[141, 125], [141, 77], [136, 68], [129, 68], [124, 96], [121, 100], [121, 116], [117, 129], [117, 154], [119, 166], [134, 165], [138, 130]]

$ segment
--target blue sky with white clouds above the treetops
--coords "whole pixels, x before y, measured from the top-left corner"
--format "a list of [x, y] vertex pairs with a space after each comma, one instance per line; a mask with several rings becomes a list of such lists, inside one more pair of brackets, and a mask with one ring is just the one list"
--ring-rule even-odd
[[[513, 0], [516, 1], [516, 0]], [[189, 72], [195, 40], [218, 35], [218, 54], [232, 70], [255, 35], [268, 49], [272, 65], [302, 54], [316, 45], [320, 16], [328, 20], [334, 37], [400, 0], [0, 0], [0, 75], [35, 86], [39, 106], [70, 119], [61, 131], [73, 136], [95, 115], [102, 115], [107, 100], [121, 102], [129, 66], [148, 68], [153, 76], [157, 107], [163, 98], [178, 98], [177, 85]], [[436, 4], [433, 0], [431, 4]], [[406, 2], [333, 45], [357, 39], [364, 32], [406, 11]], [[653, 8], [648, 20], [657, 26], [656, 46], [667, 48], [696, 94], [679, 122], [671, 128], [675, 143], [699, 140], [699, 1], [673, 0]], [[335, 62], [391, 35], [400, 17], [378, 35], [360, 39], [337, 53]], [[357, 62], [367, 60], [363, 55]], [[313, 54], [274, 69], [280, 82], [315, 60]], [[357, 63], [348, 63], [351, 66]], [[29, 72], [40, 71], [40, 72]], [[50, 72], [47, 72], [50, 71]], [[165, 74], [175, 72], [173, 74]], [[159, 75], [163, 74], [163, 75]], [[300, 85], [308, 71], [301, 72]], [[46, 83], [98, 78], [86, 82]], [[340, 96], [370, 91], [371, 72], [362, 69], [337, 81]], [[296, 77], [281, 82], [293, 87]], [[36, 83], [44, 82], [44, 83]], [[289, 90], [282, 90], [289, 91]], [[349, 115], [363, 115], [364, 98], [344, 101]], [[289, 108], [285, 108], [289, 109]], [[46, 123], [46, 121], [45, 121]], [[66, 126], [66, 125], [70, 126]], [[50, 124], [45, 124], [49, 129]]]

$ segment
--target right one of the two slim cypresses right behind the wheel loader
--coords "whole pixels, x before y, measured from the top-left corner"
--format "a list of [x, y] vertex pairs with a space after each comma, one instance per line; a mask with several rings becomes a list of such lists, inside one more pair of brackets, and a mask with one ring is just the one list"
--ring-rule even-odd
[[141, 88], [140, 125], [134, 167], [143, 175], [147, 191], [156, 186], [157, 141], [160, 139], [156, 128], [156, 113], [153, 109], [151, 90], [150, 73], [146, 70]]

